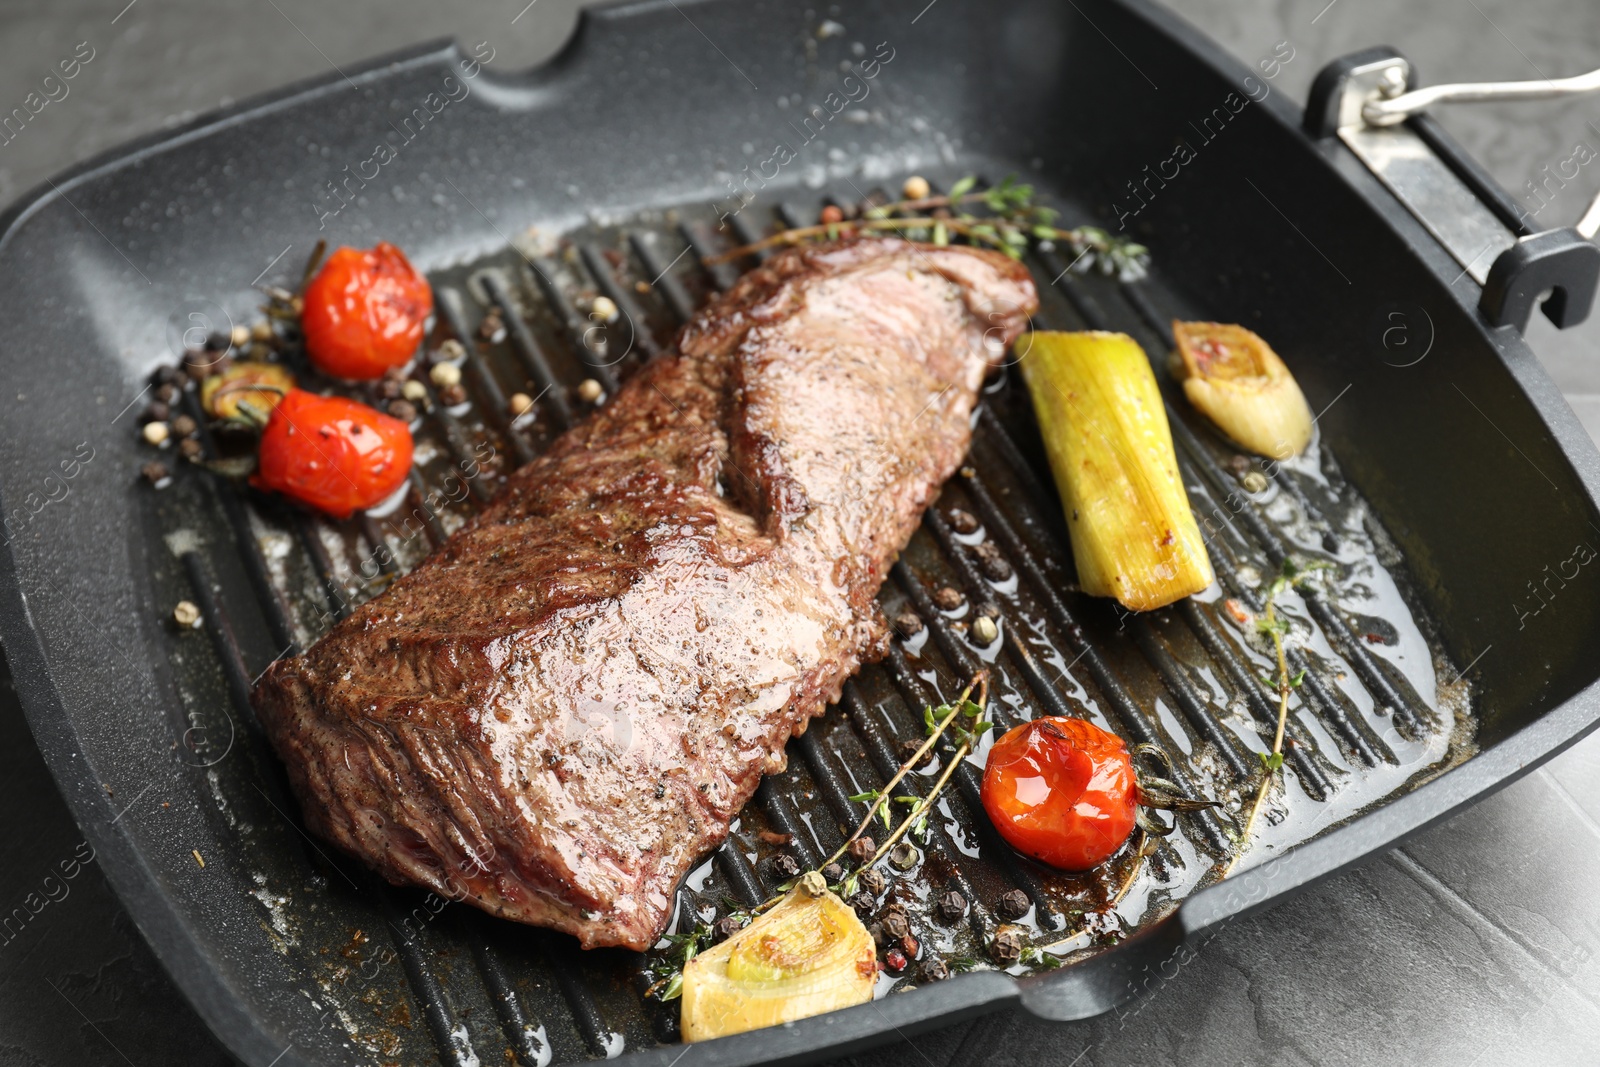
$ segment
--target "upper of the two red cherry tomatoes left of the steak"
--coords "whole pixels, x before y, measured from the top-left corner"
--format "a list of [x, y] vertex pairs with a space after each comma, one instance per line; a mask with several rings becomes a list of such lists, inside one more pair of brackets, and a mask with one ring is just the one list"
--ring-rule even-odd
[[306, 286], [306, 354], [336, 378], [382, 378], [422, 342], [434, 290], [398, 248], [339, 248]]

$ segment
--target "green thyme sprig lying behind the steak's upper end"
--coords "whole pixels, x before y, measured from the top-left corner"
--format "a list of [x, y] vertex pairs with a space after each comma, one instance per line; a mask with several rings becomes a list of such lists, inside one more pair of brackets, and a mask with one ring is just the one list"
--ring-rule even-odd
[[[1149, 274], [1149, 248], [1094, 226], [1058, 227], [1059, 213], [1035, 203], [1034, 187], [1018, 182], [1014, 176], [989, 189], [979, 190], [976, 186], [976, 178], [963, 178], [949, 194], [939, 197], [896, 200], [867, 208], [854, 219], [787, 229], [710, 256], [706, 262], [728, 262], [779, 245], [838, 240], [853, 234], [898, 232], [910, 240], [933, 245], [949, 245], [952, 237], [963, 237], [1003, 251], [1013, 259], [1021, 259], [1030, 242], [1053, 242], [1070, 251], [1070, 270], [1075, 274], [1098, 270], [1122, 282], [1138, 282]], [[970, 208], [981, 208], [986, 214], [976, 214]]]

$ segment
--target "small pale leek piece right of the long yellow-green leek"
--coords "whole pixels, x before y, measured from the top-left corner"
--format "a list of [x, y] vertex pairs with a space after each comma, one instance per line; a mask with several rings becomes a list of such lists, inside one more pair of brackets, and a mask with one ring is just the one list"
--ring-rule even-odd
[[1184, 395], [1243, 448], [1288, 459], [1310, 443], [1310, 408], [1278, 354], [1243, 326], [1174, 322]]

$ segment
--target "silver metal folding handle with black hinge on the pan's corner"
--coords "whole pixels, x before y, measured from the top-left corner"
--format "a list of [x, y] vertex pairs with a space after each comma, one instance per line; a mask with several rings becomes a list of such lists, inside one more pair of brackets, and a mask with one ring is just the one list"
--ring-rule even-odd
[[[1554, 203], [1530, 211], [1467, 155], [1426, 107], [1470, 99], [1542, 99], [1600, 91], [1600, 70], [1560, 82], [1501, 82], [1413, 88], [1411, 62], [1370, 48], [1328, 64], [1312, 83], [1306, 131], [1336, 138], [1394, 192], [1483, 286], [1478, 309], [1493, 326], [1526, 331], [1533, 309], [1560, 328], [1589, 317], [1600, 288], [1600, 198], [1576, 227], [1534, 229]], [[1558, 187], [1565, 187], [1560, 179]], [[1558, 190], [1557, 190], [1558, 192]]]

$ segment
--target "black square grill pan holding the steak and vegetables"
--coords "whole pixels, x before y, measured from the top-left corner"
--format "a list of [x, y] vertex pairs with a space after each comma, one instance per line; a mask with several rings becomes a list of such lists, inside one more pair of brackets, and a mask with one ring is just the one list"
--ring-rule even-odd
[[[1126, 286], [1061, 277], [1067, 264], [1037, 253], [1042, 325], [1126, 330], [1155, 354], [1173, 315], [1270, 338], [1322, 411], [1320, 464], [1242, 494], [1226, 446], [1174, 408], [1186, 485], [1216, 518], [1222, 587], [1248, 600], [1250, 571], [1270, 574], [1283, 552], [1331, 555], [1366, 568], [1373, 597], [1416, 643], [1402, 662], [1368, 643], [1349, 603], [1296, 608], [1314, 643], [1285, 817], [1264, 829], [1248, 869], [1208, 885], [1229, 816], [1186, 816], [1160, 870], [1139, 881], [1139, 907], [1155, 918], [1133, 936], [1059, 971], [962, 974], [710, 1043], [696, 1062], [837, 1056], [1014, 1003], [1062, 1021], [1107, 1011], [1197, 933], [1395, 845], [1595, 725], [1600, 598], [1584, 590], [1586, 565], [1576, 577], [1566, 568], [1582, 558], [1576, 545], [1600, 544], [1600, 458], [1517, 317], [1496, 325], [1507, 322], [1496, 309], [1530, 306], [1518, 285], [1538, 294], [1562, 275], [1533, 258], [1531, 282], [1491, 275], [1498, 302], [1480, 309], [1477, 283], [1429, 230], [1315, 123], [1302, 133], [1280, 96], [1206, 125], [1246, 78], [1261, 86], [1259, 72], [1139, 0], [920, 6], [845, 6], [830, 14], [845, 32], [821, 37], [800, 5], [618, 6], [586, 13], [539, 70], [490, 61], [466, 82], [470, 53], [430, 45], [91, 162], [5, 216], [0, 374], [16, 397], [0, 469], [5, 648], [107, 877], [246, 1062], [682, 1054], [662, 1040], [670, 1013], [638, 1000], [637, 957], [582, 955], [563, 937], [379, 886], [306, 838], [245, 694], [274, 656], [426, 555], [493, 493], [496, 472], [581, 418], [578, 381], [610, 387], [667, 344], [726, 283], [701, 253], [786, 214], [814, 218], [826, 197], [894, 189], [907, 173], [949, 182], [1016, 171], [1069, 222], [1110, 226], [1139, 182], [1130, 221], [1154, 248], [1155, 275]], [[838, 66], [858, 58], [858, 42], [869, 54], [878, 42], [893, 50], [869, 96], [770, 182], [749, 186], [757, 195], [731, 218], [733, 234], [717, 234], [710, 224], [766, 144], [803, 139], [808, 106], [848, 90]], [[469, 93], [414, 118], [430, 93], [453, 91], [446, 75]], [[1437, 128], [1416, 125], [1472, 178]], [[1144, 184], [1176, 138], [1198, 146], [1194, 158]], [[352, 202], [333, 213], [342, 200], [328, 182], [365, 166], [374, 139], [400, 144], [397, 157], [347, 186]], [[160, 493], [139, 485], [149, 453], [133, 443], [134, 422], [152, 366], [173, 362], [173, 338], [195, 323], [248, 322], [251, 285], [291, 283], [318, 235], [406, 248], [440, 293], [435, 342], [477, 338], [499, 309], [504, 338], [469, 344], [469, 406], [426, 419], [418, 498], [434, 504], [408, 504], [414, 526], [333, 526], [198, 469]], [[571, 253], [549, 246], [552, 235]], [[597, 341], [578, 310], [592, 293], [622, 307], [629, 331]], [[1578, 302], [1565, 310], [1579, 314]], [[1395, 314], [1427, 342], [1421, 360], [1416, 349], [1397, 355]], [[504, 397], [523, 387], [549, 392], [536, 419], [507, 426]], [[861, 809], [850, 795], [893, 766], [920, 704], [950, 696], [950, 680], [984, 659], [1011, 699], [1006, 717], [1101, 717], [1168, 747], [1202, 785], [1237, 792], [1246, 781], [1262, 710], [1250, 649], [1216, 601], [1118, 617], [1074, 593], [1034, 434], [1019, 386], [1002, 374], [970, 469], [885, 589], [891, 613], [910, 606], [928, 621], [926, 637], [898, 643], [790, 745], [790, 769], [763, 784], [734, 845], [690, 878], [686, 905], [770, 888], [762, 827], [794, 833], [805, 862], [830, 851], [837, 824]], [[952, 509], [976, 515], [981, 534], [954, 530]], [[1008, 579], [978, 569], [974, 537], [1000, 549]], [[958, 614], [928, 603], [944, 584], [995, 601], [1003, 645], [976, 648]], [[179, 598], [202, 606], [202, 630], [173, 629]], [[1438, 718], [1456, 709], [1426, 694], [1434, 677], [1469, 693], [1470, 741]], [[1030, 894], [1027, 921], [1042, 936], [1069, 936], [1072, 901], [1090, 905], [1109, 886], [1006, 859], [971, 819], [968, 792], [950, 793], [907, 883], [957, 885], [978, 907], [925, 941], [976, 944], [994, 923], [987, 902], [1011, 886]]]

